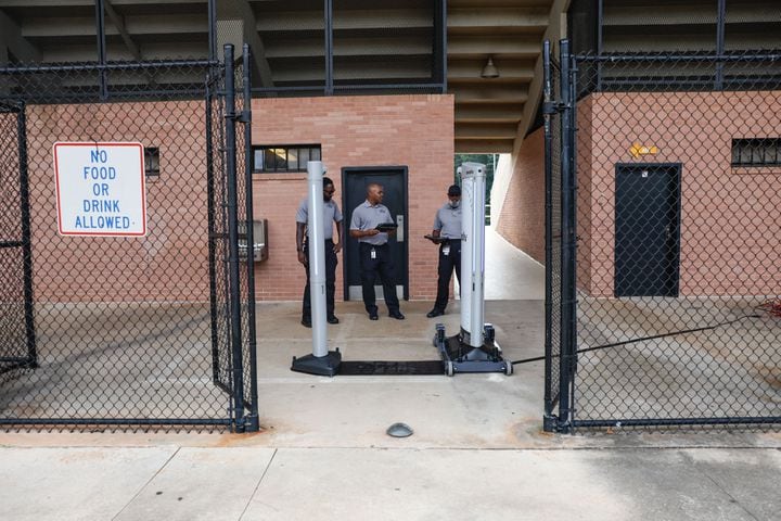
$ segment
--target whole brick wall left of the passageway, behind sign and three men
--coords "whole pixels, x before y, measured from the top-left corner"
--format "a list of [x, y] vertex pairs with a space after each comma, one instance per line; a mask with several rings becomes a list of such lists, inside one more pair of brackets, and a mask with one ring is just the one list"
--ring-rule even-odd
[[[409, 168], [410, 297], [436, 295], [436, 250], [425, 239], [452, 180], [450, 96], [254, 100], [256, 144], [321, 143], [342, 206], [343, 166]], [[39, 105], [27, 110], [35, 292], [39, 301], [206, 301], [206, 142], [203, 102]], [[52, 145], [140, 141], [158, 147], [161, 176], [146, 183], [145, 238], [60, 237]], [[14, 167], [14, 165], [12, 165]], [[254, 176], [256, 217], [269, 220], [258, 300], [300, 298], [295, 211], [306, 174]], [[342, 263], [340, 255], [340, 263]], [[342, 270], [337, 269], [337, 298]]]

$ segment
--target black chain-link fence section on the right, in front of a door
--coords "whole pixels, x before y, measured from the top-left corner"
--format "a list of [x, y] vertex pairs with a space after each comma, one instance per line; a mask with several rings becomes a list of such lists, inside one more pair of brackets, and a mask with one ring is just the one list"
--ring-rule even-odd
[[546, 430], [781, 424], [780, 59], [546, 42]]

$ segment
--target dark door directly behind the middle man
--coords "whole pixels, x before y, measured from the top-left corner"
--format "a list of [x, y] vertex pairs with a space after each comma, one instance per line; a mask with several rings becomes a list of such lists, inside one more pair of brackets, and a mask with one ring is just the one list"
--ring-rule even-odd
[[[358, 262], [358, 241], [349, 237], [349, 223], [353, 211], [366, 201], [367, 186], [379, 182], [385, 194], [383, 204], [390, 211], [399, 226], [396, 237], [390, 237], [390, 251], [396, 268], [396, 292], [399, 298], [409, 300], [409, 263], [407, 255], [407, 167], [371, 166], [342, 168], [343, 209], [345, 216], [344, 253], [344, 295], [345, 301], [361, 300], [360, 263]], [[382, 285], [377, 280], [377, 300], [382, 298]]]

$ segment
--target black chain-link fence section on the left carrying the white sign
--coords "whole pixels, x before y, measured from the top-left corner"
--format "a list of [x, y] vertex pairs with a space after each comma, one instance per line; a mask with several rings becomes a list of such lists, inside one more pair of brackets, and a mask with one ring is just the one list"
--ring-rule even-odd
[[[0, 424], [258, 429], [248, 60], [0, 68]], [[143, 144], [145, 236], [57, 232], [54, 142]]]

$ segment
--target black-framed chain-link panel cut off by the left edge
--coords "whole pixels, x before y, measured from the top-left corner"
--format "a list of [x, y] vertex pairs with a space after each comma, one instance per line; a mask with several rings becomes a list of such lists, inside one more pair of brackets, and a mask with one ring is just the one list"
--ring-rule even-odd
[[37, 363], [24, 107], [0, 104], [0, 372]]

